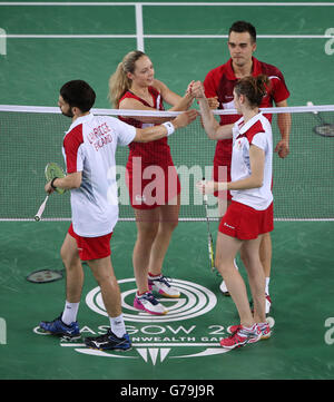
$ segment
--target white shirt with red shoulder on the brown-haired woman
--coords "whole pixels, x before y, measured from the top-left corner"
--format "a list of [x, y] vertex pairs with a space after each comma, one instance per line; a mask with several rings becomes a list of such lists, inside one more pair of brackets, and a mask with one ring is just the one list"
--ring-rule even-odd
[[259, 188], [230, 190], [230, 195], [235, 202], [248, 205], [257, 210], [264, 210], [273, 202], [273, 134], [271, 122], [261, 112], [246, 124], [242, 117], [233, 127], [232, 182], [250, 176], [250, 145], [255, 145], [265, 151], [263, 186]]

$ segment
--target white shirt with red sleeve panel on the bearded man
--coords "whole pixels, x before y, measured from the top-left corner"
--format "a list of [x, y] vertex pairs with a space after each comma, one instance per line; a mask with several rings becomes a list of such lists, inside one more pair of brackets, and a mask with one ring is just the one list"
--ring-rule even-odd
[[63, 137], [67, 173], [82, 171], [79, 188], [71, 190], [72, 225], [82, 237], [104, 236], [118, 220], [115, 153], [127, 146], [136, 128], [109, 116], [77, 118]]

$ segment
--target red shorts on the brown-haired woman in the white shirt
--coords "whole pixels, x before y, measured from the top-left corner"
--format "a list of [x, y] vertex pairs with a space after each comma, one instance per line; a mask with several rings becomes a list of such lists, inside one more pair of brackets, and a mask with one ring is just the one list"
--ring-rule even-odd
[[274, 229], [273, 203], [264, 210], [232, 202], [219, 224], [219, 232], [240, 241], [250, 241]]

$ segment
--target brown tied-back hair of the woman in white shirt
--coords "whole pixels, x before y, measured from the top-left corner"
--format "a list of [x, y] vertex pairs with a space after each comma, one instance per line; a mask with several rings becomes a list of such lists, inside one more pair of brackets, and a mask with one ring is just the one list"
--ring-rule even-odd
[[255, 108], [261, 105], [262, 98], [266, 95], [269, 84], [271, 81], [267, 76], [248, 76], [237, 81], [234, 90], [237, 95], [244, 95], [248, 99], [249, 106]]

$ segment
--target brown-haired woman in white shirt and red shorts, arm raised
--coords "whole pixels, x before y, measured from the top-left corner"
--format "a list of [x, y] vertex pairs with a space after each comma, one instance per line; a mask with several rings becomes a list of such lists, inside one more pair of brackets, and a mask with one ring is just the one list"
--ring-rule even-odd
[[[220, 341], [225, 349], [271, 336], [265, 317], [265, 276], [258, 253], [262, 236], [274, 229], [272, 128], [267, 118], [258, 111], [268, 85], [266, 76], [240, 79], [234, 89], [234, 102], [243, 117], [234, 125], [226, 126], [219, 126], [215, 120], [202, 82], [195, 82], [191, 88], [198, 99], [208, 137], [216, 140], [233, 138], [232, 180], [200, 182], [197, 185], [206, 194], [226, 189], [232, 194], [232, 203], [219, 224], [215, 265], [235, 302], [240, 324], [228, 329], [232, 334]], [[234, 266], [234, 258], [242, 246], [247, 258], [254, 313], [250, 311], [244, 280]]]

